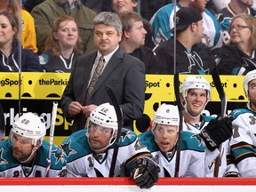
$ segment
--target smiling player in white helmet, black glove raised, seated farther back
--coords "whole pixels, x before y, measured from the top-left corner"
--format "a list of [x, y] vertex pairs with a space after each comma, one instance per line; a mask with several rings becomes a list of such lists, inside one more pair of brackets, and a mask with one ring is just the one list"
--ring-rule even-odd
[[[232, 135], [232, 118], [225, 117], [218, 120], [212, 116], [202, 115], [205, 106], [212, 98], [211, 85], [203, 76], [187, 76], [181, 84], [180, 93], [184, 116], [183, 130], [200, 133], [207, 147], [205, 148], [205, 176], [213, 177], [214, 160], [220, 155], [219, 177], [222, 177], [227, 168], [228, 141], [222, 145], [220, 150], [218, 148]], [[208, 140], [207, 135], [212, 137], [212, 140]]]

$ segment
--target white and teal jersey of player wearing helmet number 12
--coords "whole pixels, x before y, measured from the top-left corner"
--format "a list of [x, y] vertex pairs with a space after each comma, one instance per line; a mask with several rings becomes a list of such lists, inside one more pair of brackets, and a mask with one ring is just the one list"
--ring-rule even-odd
[[[108, 177], [114, 146], [110, 146], [105, 153], [94, 154], [90, 147], [85, 130], [74, 132], [61, 144], [67, 159], [68, 177]], [[119, 141], [116, 157], [115, 177], [124, 177], [130, 172], [137, 157], [152, 157], [147, 148], [140, 144], [135, 132], [123, 129]]]

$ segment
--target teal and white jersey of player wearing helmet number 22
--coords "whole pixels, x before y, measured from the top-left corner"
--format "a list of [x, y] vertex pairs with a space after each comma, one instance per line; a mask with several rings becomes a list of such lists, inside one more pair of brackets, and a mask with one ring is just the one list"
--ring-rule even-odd
[[[43, 140], [42, 146], [36, 150], [36, 159], [31, 167], [25, 167], [12, 156], [12, 142], [0, 142], [0, 177], [44, 177], [47, 167], [49, 142]], [[60, 148], [52, 146], [51, 167], [49, 177], [66, 177], [65, 161]]]

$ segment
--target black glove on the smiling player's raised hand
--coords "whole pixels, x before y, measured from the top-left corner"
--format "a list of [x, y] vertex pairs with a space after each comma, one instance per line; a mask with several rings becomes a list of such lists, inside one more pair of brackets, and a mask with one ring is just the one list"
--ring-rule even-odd
[[226, 116], [220, 120], [218, 118], [212, 119], [202, 132], [199, 133], [209, 150], [213, 151], [215, 148], [219, 148], [222, 142], [232, 136], [232, 121], [232, 116]]

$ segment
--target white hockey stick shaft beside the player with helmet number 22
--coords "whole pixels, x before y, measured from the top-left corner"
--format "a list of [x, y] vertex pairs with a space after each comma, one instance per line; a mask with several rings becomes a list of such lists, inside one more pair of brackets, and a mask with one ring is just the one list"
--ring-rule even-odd
[[49, 172], [50, 172], [50, 167], [51, 167], [52, 144], [53, 144], [53, 136], [54, 136], [55, 122], [56, 122], [57, 108], [58, 108], [58, 102], [53, 101], [52, 121], [51, 121], [51, 128], [50, 128], [48, 156], [47, 156], [47, 159], [46, 159], [47, 160], [47, 166], [46, 166], [46, 169], [45, 169], [45, 177], [49, 177]]

